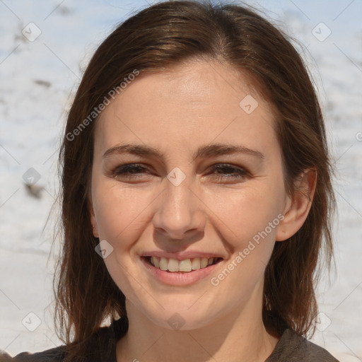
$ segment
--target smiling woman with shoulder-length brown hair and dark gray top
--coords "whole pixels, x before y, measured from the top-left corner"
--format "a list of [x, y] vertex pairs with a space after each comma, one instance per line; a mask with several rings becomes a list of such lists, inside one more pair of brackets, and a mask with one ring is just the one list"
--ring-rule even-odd
[[257, 13], [170, 1], [119, 25], [60, 164], [65, 345], [4, 361], [337, 361], [305, 339], [332, 256], [325, 126]]

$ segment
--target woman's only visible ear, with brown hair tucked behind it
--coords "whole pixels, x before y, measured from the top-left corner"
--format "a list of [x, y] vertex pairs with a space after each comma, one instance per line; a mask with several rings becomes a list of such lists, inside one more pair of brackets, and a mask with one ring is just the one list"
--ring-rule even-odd
[[288, 196], [284, 208], [284, 219], [276, 231], [276, 241], [291, 238], [302, 226], [312, 206], [317, 185], [317, 170], [309, 168], [294, 182], [294, 191]]

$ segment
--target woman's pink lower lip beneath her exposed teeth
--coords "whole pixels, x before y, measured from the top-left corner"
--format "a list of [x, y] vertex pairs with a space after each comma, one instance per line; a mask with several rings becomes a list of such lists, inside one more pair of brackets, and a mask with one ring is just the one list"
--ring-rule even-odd
[[205, 279], [206, 276], [209, 276], [220, 264], [209, 265], [206, 268], [192, 270], [189, 272], [177, 272], [177, 271], [163, 271], [159, 268], [153, 267], [152, 264], [148, 263], [144, 257], [141, 257], [142, 264], [146, 267], [151, 274], [161, 281], [164, 284], [168, 284], [170, 286], [187, 286], [189, 284], [194, 284], [197, 281]]

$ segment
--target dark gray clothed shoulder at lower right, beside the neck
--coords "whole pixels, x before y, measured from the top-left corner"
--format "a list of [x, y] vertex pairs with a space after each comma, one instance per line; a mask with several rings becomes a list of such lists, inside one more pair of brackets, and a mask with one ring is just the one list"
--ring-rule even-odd
[[266, 362], [339, 362], [317, 344], [286, 329]]

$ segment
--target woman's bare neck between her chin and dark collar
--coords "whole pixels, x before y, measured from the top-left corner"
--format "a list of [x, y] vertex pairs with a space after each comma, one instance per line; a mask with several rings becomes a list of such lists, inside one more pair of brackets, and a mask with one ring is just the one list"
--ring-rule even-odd
[[129, 303], [129, 330], [117, 343], [117, 362], [265, 361], [278, 338], [265, 329], [262, 309], [249, 304], [204, 327], [175, 331], [158, 327]]

